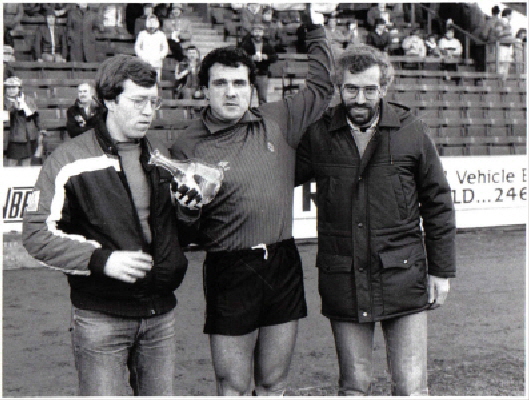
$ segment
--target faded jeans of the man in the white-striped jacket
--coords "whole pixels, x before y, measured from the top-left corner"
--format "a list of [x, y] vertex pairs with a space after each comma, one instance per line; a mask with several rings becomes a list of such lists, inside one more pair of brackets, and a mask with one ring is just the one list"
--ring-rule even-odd
[[79, 395], [174, 395], [175, 312], [124, 318], [72, 308]]

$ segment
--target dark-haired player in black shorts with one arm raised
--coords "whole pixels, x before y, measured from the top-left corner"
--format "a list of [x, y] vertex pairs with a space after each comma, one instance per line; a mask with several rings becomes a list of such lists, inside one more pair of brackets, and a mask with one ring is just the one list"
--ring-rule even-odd
[[[313, 13], [307, 86], [279, 102], [249, 108], [255, 64], [244, 50], [213, 50], [199, 83], [209, 100], [201, 118], [175, 140], [173, 155], [226, 166], [215, 199], [198, 219], [206, 322], [217, 394], [281, 395], [306, 316], [301, 260], [292, 238], [295, 149], [327, 108], [332, 57]], [[194, 215], [193, 215], [194, 214]]]

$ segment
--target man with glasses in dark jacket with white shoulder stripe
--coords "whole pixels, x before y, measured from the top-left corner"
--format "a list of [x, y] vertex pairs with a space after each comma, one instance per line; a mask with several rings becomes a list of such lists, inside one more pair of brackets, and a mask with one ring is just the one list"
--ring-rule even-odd
[[96, 126], [59, 146], [28, 203], [28, 252], [63, 271], [71, 289], [79, 395], [174, 395], [174, 290], [187, 269], [172, 176], [149, 164], [145, 137], [160, 107], [156, 72], [107, 59], [96, 75]]

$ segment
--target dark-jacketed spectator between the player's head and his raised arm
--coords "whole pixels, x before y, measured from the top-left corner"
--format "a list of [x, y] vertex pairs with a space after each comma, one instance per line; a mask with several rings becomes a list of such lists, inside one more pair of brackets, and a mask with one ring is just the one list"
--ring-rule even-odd
[[277, 60], [274, 48], [264, 37], [264, 25], [256, 23], [251, 33], [241, 41], [240, 47], [252, 58], [256, 66], [255, 89], [259, 104], [266, 103], [270, 64]]

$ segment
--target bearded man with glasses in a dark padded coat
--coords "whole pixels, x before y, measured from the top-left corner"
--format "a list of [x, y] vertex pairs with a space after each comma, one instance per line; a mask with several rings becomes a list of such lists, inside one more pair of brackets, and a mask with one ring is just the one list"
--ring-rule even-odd
[[392, 393], [427, 395], [425, 311], [445, 301], [455, 276], [450, 187], [426, 125], [384, 99], [393, 80], [385, 54], [354, 46], [337, 78], [341, 104], [303, 137], [296, 183], [316, 179], [316, 265], [339, 394], [370, 394], [380, 321]]

